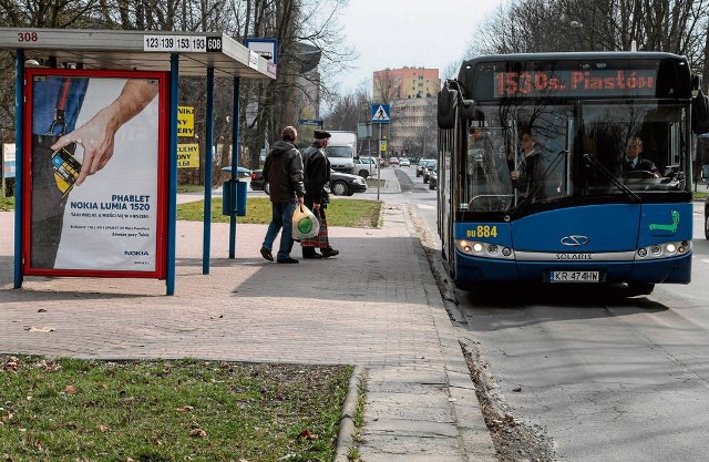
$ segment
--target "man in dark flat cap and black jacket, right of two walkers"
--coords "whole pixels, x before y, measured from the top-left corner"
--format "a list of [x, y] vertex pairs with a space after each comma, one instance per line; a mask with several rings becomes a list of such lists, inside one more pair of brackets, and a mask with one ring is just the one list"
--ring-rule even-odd
[[[318, 236], [300, 242], [302, 245], [302, 258], [327, 258], [339, 254], [339, 250], [330, 247], [325, 216], [325, 209], [329, 202], [328, 192], [325, 187], [330, 184], [330, 161], [328, 161], [325, 148], [330, 136], [330, 133], [325, 130], [316, 130], [312, 144], [302, 152], [306, 183], [305, 204], [320, 220]], [[315, 251], [316, 247], [320, 247], [320, 254]]]

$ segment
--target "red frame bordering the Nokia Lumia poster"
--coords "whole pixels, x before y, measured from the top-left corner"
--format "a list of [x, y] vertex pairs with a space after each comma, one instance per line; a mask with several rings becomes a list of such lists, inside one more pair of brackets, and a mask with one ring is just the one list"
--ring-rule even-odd
[[[32, 82], [35, 75], [65, 75], [84, 78], [154, 79], [158, 82], [160, 115], [157, 125], [157, 212], [156, 212], [156, 255], [153, 271], [110, 270], [110, 269], [65, 269], [32, 268], [30, 259], [31, 244], [31, 172], [32, 172]], [[75, 276], [106, 278], [153, 278], [166, 279], [167, 274], [167, 194], [169, 184], [169, 73], [153, 71], [111, 71], [81, 69], [29, 68], [24, 72], [24, 130], [22, 133], [22, 270], [27, 276]]]

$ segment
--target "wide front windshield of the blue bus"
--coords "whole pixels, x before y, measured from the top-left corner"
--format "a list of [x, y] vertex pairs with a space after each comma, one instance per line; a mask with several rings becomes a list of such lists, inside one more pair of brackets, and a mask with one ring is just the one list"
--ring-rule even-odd
[[480, 104], [460, 157], [459, 209], [685, 191], [684, 105], [651, 100]]

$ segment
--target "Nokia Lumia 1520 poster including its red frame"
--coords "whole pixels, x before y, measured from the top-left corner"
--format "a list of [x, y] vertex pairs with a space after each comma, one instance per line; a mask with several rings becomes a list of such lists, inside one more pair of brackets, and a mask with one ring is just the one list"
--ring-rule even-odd
[[164, 75], [28, 72], [27, 273], [161, 277]]

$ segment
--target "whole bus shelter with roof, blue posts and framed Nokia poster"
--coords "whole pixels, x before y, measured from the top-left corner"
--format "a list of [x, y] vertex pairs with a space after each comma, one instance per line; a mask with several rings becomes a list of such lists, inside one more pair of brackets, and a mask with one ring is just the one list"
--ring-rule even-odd
[[0, 28], [16, 62], [14, 287], [24, 276], [157, 278], [175, 289], [181, 75], [206, 75], [203, 273], [209, 270], [214, 79], [234, 82], [234, 258], [239, 81], [275, 79], [223, 33]]

